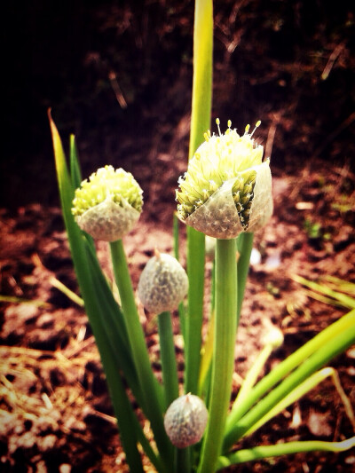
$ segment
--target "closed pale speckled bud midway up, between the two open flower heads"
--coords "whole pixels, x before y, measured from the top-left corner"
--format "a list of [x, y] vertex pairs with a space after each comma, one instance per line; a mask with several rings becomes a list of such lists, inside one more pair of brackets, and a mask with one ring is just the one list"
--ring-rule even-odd
[[174, 311], [187, 294], [185, 269], [176, 258], [155, 251], [138, 282], [138, 296], [147, 311]]

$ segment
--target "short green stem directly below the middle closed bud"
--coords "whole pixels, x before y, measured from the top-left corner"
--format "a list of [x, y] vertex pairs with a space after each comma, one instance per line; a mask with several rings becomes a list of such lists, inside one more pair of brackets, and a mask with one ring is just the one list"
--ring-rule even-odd
[[165, 405], [170, 406], [178, 398], [177, 359], [170, 312], [158, 316], [159, 341], [161, 346], [162, 381], [165, 390]]

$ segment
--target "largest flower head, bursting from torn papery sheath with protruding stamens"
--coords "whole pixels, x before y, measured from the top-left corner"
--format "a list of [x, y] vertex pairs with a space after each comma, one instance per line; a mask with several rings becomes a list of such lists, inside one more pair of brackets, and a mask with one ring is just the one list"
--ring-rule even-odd
[[[219, 130], [219, 120], [217, 125]], [[264, 148], [248, 126], [240, 136], [231, 125], [224, 135], [205, 134], [177, 190], [180, 220], [219, 239], [255, 232], [272, 216], [272, 176], [269, 161], [263, 162]]]

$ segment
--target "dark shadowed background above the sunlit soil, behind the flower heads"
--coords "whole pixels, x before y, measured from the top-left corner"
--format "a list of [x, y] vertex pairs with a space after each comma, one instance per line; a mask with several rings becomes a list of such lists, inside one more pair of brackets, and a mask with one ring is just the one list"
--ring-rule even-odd
[[[32, 0], [4, 7], [0, 206], [57, 205], [47, 109], [83, 173], [122, 166], [174, 205], [186, 166], [193, 1]], [[214, 5], [213, 120], [257, 132], [272, 166], [354, 155], [355, 27], [340, 0]], [[214, 122], [212, 122], [214, 123]], [[212, 126], [213, 130], [213, 126]], [[163, 182], [162, 182], [163, 181]], [[149, 185], [149, 188], [147, 188]]]

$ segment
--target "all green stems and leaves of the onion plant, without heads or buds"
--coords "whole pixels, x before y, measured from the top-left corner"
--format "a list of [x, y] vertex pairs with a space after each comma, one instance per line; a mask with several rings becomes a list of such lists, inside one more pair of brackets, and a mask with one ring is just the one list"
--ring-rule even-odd
[[[213, 11], [212, 0], [196, 0], [193, 33], [193, 103], [190, 153], [201, 145], [209, 130], [212, 91]], [[218, 239], [212, 276], [209, 339], [202, 340], [205, 281], [205, 235], [187, 227], [187, 304], [178, 312], [185, 346], [184, 383], [179, 385], [174, 334], [170, 311], [158, 314], [158, 331], [162, 361], [162, 383], [152, 369], [146, 339], [130, 280], [129, 266], [122, 240], [110, 242], [114, 280], [120, 304], [99, 266], [91, 237], [75, 224], [71, 214], [75, 187], [81, 182], [74, 138], [70, 146], [70, 168], [51, 120], [59, 192], [67, 227], [75, 272], [85, 309], [99, 347], [106, 380], [113, 400], [114, 414], [130, 470], [144, 471], [141, 445], [146, 457], [158, 472], [213, 473], [232, 464], [285, 453], [327, 450], [338, 452], [355, 445], [355, 438], [344, 442], [291, 442], [281, 445], [236, 449], [241, 438], [267, 422], [271, 416], [304, 395], [329, 375], [321, 370], [330, 359], [355, 342], [355, 310], [333, 326], [316, 335], [288, 359], [256, 382], [272, 352], [266, 344], [247, 374], [240, 395], [230, 406], [235, 362], [235, 341], [241, 304], [248, 276], [253, 233], [238, 238]], [[177, 219], [174, 219], [174, 248], [178, 257]], [[238, 255], [238, 258], [236, 257]], [[238, 350], [238, 347], [237, 347]], [[319, 371], [320, 370], [320, 371]], [[151, 433], [146, 437], [138, 422], [125, 385], [146, 419]], [[341, 392], [341, 390], [339, 390]], [[204, 400], [209, 411], [207, 428], [201, 442], [176, 448], [164, 430], [164, 414], [182, 393], [192, 393]], [[351, 418], [352, 409], [344, 405]], [[355, 423], [355, 422], [354, 422]], [[154, 443], [148, 438], [154, 438]]]

